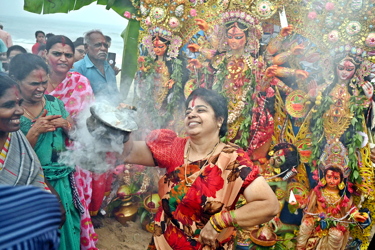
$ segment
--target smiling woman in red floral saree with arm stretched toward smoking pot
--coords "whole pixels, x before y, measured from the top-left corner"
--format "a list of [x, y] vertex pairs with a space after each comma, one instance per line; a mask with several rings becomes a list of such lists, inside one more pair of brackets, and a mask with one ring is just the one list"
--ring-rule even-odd
[[[227, 119], [225, 98], [200, 88], [186, 101], [189, 139], [161, 129], [146, 141], [124, 144], [125, 162], [167, 170], [159, 181], [161, 206], [149, 250], [233, 249], [236, 227], [259, 225], [279, 212], [272, 189], [243, 149], [220, 142]], [[234, 210], [240, 194], [248, 204]]]

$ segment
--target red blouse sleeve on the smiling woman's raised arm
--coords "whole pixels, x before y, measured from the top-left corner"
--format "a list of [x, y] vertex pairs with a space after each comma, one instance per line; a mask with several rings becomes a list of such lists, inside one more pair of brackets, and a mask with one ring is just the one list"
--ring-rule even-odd
[[155, 164], [171, 172], [176, 166], [183, 164], [183, 151], [186, 139], [177, 137], [173, 130], [152, 130], [145, 139], [150, 148]]

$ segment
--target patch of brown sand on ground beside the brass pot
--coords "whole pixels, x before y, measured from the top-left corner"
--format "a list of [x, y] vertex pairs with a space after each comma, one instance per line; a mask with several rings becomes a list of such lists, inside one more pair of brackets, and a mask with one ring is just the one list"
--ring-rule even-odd
[[139, 217], [135, 222], [121, 225], [114, 218], [102, 219], [103, 228], [95, 229], [100, 250], [146, 250], [152, 234], [142, 230]]

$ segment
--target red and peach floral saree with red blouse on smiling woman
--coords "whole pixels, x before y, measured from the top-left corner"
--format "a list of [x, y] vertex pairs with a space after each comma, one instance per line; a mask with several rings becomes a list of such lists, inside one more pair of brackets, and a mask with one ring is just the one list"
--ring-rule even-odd
[[[211, 216], [234, 209], [239, 195], [259, 176], [248, 155], [239, 146], [228, 143], [223, 150], [205, 160], [187, 165], [187, 176], [193, 181], [185, 184], [183, 159], [186, 138], [177, 137], [168, 129], [153, 130], [146, 144], [154, 161], [167, 173], [159, 181], [160, 207], [155, 215], [154, 233], [148, 250], [199, 250], [201, 229]], [[206, 158], [207, 159], [207, 158]], [[219, 234], [216, 249], [233, 249], [236, 228]]]

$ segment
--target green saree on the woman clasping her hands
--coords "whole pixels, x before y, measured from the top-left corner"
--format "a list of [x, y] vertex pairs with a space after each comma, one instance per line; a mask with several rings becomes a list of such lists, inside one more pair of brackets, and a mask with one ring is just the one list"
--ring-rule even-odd
[[[64, 119], [68, 117], [69, 113], [65, 110], [64, 103], [61, 100], [50, 95], [44, 95], [44, 97], [47, 115], [62, 115]], [[24, 116], [20, 120], [21, 131], [24, 135], [27, 135], [31, 128], [31, 120]], [[66, 221], [60, 230], [61, 239], [58, 250], [80, 250], [80, 211], [76, 208], [77, 204], [74, 199], [74, 177], [69, 178], [69, 175], [74, 174], [75, 166], [64, 165], [62, 162], [65, 162], [65, 160], [59, 159], [58, 156], [59, 153], [66, 151], [65, 138], [65, 133], [61, 128], [54, 132], [41, 134], [34, 151], [42, 165], [45, 178], [60, 195], [66, 211]], [[80, 205], [82, 206], [82, 204]]]

